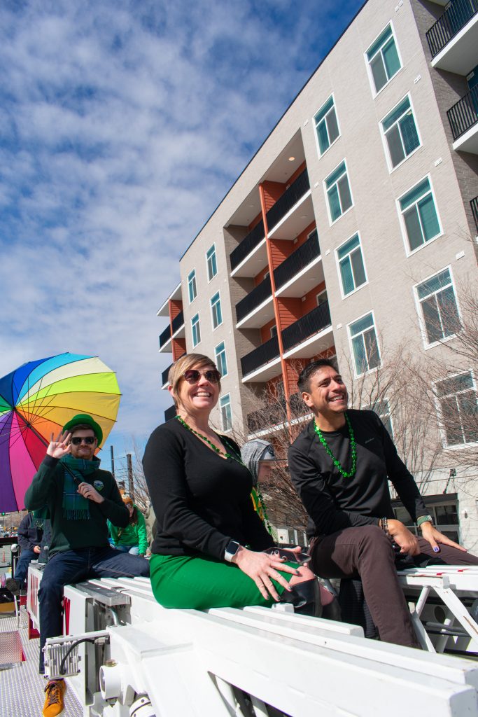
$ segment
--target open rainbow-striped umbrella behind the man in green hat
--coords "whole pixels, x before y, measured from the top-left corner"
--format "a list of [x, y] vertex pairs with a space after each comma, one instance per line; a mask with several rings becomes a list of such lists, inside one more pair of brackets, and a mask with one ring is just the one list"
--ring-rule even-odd
[[120, 405], [116, 376], [97, 356], [61, 353], [29, 361], [0, 379], [0, 508], [19, 511], [52, 433], [78, 413], [102, 427], [103, 444]]

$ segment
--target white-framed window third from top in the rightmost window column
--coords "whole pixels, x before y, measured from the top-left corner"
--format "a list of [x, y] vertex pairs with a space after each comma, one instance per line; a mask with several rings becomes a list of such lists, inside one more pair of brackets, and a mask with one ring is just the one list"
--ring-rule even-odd
[[398, 210], [406, 236], [407, 253], [420, 249], [442, 233], [428, 176], [398, 199]]

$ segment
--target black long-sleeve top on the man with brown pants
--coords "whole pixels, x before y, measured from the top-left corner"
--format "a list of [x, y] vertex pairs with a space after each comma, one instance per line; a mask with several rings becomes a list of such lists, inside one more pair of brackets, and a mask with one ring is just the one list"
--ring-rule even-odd
[[[424, 501], [411, 473], [398, 457], [386, 427], [373, 411], [349, 410], [357, 449], [357, 470], [343, 478], [322, 446], [314, 422], [305, 427], [289, 450], [292, 482], [312, 519], [310, 536], [330, 535], [350, 526], [378, 525], [393, 518], [388, 480], [411, 517], [425, 516]], [[338, 431], [322, 431], [343, 469], [350, 471], [351, 450], [347, 424]]]

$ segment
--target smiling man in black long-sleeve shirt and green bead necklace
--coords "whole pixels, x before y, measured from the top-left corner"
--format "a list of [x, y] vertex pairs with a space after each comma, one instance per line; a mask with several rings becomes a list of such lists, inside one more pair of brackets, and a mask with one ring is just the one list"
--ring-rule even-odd
[[[381, 640], [418, 647], [394, 563], [401, 553], [478, 564], [434, 528], [414, 478], [372, 411], [347, 410], [348, 393], [332, 362], [314, 361], [298, 381], [314, 420], [290, 447], [292, 481], [310, 516], [310, 566], [327, 578], [358, 577]], [[388, 480], [421, 529], [393, 518]]]

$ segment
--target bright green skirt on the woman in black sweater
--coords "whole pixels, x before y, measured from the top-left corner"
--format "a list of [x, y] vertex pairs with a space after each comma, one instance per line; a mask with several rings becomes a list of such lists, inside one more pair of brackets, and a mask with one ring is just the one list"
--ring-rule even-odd
[[[207, 556], [152, 555], [150, 579], [154, 597], [163, 607], [206, 610], [209, 607], [271, 607], [274, 600], [266, 600], [254, 580], [232, 563], [222, 563]], [[287, 563], [296, 567], [292, 563]], [[279, 571], [287, 581], [291, 573]], [[282, 585], [274, 582], [282, 594]]]

